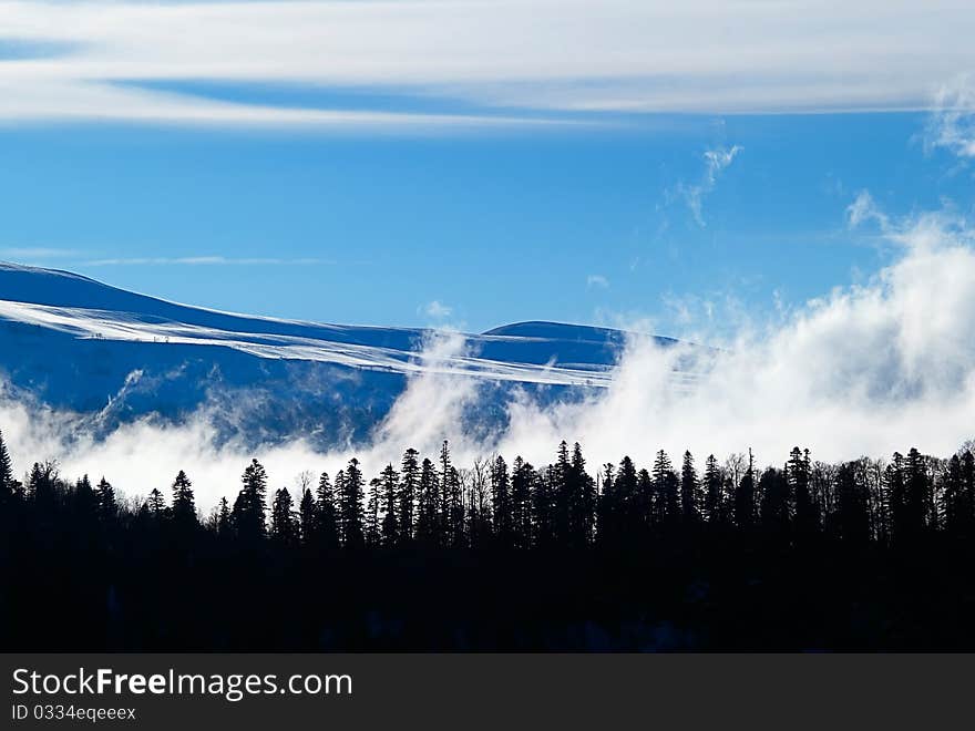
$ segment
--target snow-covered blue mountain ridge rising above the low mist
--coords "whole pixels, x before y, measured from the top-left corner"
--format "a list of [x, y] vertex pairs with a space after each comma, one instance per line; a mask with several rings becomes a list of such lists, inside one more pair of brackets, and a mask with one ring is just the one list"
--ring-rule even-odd
[[0, 262], [0, 377], [14, 393], [76, 412], [102, 432], [209, 408], [227, 435], [300, 433], [327, 446], [367, 435], [423, 372], [475, 379], [480, 398], [465, 420], [486, 429], [514, 389], [548, 401], [606, 387], [625, 333], [520, 322], [447, 344], [438, 338], [219, 312]]

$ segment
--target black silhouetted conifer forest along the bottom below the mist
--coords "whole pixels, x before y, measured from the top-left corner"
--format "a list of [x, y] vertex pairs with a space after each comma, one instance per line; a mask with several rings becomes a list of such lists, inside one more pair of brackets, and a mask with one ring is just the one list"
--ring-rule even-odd
[[14, 475], [0, 435], [8, 651], [975, 649], [971, 449], [592, 469], [443, 442], [295, 494], [255, 459], [206, 516], [183, 471], [144, 500]]

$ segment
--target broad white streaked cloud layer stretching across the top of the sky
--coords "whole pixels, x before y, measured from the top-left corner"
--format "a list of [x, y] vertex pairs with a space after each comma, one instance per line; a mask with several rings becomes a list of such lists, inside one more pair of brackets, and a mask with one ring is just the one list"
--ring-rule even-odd
[[975, 13], [953, 0], [13, 1], [0, 2], [0, 28], [38, 48], [0, 61], [0, 119], [9, 121], [530, 123], [137, 85], [155, 81], [393, 90], [552, 111], [902, 110], [928, 107], [942, 80], [975, 65]]

